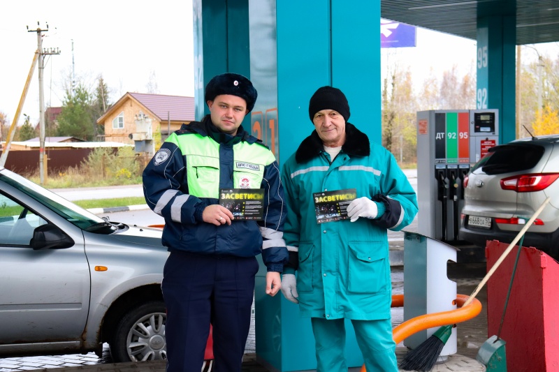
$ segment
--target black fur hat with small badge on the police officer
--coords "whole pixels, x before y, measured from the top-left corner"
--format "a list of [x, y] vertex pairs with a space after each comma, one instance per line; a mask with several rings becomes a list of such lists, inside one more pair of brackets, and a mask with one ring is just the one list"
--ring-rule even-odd
[[214, 101], [222, 94], [230, 94], [244, 99], [247, 103], [247, 110], [252, 111], [258, 92], [252, 86], [252, 82], [246, 77], [236, 73], [224, 73], [212, 77], [212, 80], [205, 86], [204, 101]]

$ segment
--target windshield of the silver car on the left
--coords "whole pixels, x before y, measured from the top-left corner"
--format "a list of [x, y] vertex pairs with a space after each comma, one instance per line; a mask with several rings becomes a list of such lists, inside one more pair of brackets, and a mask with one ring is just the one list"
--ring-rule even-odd
[[105, 222], [103, 218], [95, 216], [89, 211], [78, 207], [76, 204], [68, 202], [68, 200], [56, 193], [48, 191], [46, 188], [38, 186], [14, 172], [2, 172], [0, 173], [0, 179], [6, 182], [6, 184], [17, 188], [17, 190], [22, 193], [34, 198], [62, 218], [78, 226], [78, 228], [85, 230], [93, 225], [99, 225]]

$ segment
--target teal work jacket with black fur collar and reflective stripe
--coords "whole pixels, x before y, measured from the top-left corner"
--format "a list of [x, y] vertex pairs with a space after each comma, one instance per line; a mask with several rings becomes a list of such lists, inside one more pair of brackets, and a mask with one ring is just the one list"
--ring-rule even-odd
[[[282, 168], [287, 200], [284, 239], [297, 271], [302, 316], [353, 320], [391, 316], [387, 230], [401, 230], [417, 213], [416, 193], [392, 154], [346, 124], [346, 142], [331, 161], [313, 131]], [[313, 193], [356, 188], [379, 216], [317, 223]]]

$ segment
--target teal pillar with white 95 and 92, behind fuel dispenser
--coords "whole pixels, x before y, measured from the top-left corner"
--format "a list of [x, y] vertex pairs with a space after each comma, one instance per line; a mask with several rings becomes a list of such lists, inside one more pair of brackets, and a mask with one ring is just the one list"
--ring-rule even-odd
[[476, 108], [498, 109], [499, 143], [516, 139], [516, 23], [514, 15], [477, 20]]

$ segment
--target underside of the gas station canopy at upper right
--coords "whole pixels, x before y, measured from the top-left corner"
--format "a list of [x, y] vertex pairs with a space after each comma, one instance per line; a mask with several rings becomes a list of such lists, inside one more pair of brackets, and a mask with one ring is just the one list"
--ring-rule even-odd
[[381, 0], [382, 18], [473, 40], [495, 15], [516, 15], [516, 45], [559, 41], [557, 0]]

